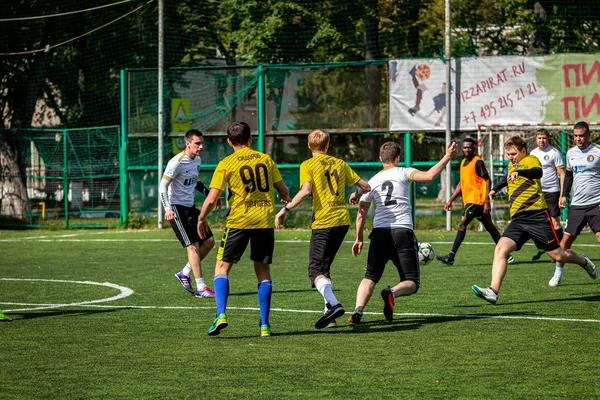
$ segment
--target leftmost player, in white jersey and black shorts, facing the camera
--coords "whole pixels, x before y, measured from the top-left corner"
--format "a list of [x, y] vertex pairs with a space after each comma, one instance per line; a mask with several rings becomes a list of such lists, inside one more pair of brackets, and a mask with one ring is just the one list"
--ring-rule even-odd
[[[215, 297], [202, 277], [200, 262], [215, 245], [212, 232], [203, 240], [198, 235], [200, 210], [194, 205], [194, 190], [205, 196], [209, 190], [200, 180], [200, 153], [204, 138], [202, 132], [190, 129], [185, 134], [185, 150], [169, 160], [159, 186], [160, 201], [165, 208], [165, 218], [171, 224], [175, 236], [187, 250], [188, 263], [175, 278], [183, 288], [196, 297]], [[192, 287], [190, 273], [196, 278], [196, 289]]]

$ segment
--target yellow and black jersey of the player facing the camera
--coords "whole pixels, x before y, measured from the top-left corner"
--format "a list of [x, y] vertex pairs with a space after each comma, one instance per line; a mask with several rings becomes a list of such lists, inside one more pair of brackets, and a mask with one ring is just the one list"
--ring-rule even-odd
[[[526, 156], [514, 166], [508, 164], [508, 175], [514, 171], [532, 168], [542, 168], [540, 160], [535, 156]], [[508, 181], [508, 199], [510, 201], [510, 216], [524, 211], [545, 210], [548, 208], [542, 194], [541, 179], [528, 179], [517, 175], [514, 182]]]

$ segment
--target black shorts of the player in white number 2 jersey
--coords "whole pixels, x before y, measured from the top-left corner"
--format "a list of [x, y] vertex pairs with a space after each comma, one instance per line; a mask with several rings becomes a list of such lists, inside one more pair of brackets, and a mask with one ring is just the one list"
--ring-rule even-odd
[[375, 228], [369, 235], [369, 257], [365, 278], [377, 283], [383, 275], [385, 265], [392, 260], [400, 281], [413, 281], [420, 286], [419, 243], [415, 233], [407, 228]]

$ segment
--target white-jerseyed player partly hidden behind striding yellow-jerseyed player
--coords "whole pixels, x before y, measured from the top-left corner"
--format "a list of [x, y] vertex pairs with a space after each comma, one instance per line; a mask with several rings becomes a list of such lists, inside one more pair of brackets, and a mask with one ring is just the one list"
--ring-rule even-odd
[[[531, 150], [530, 155], [535, 156], [542, 163], [542, 193], [546, 198], [548, 213], [552, 218], [552, 224], [556, 230], [556, 235], [560, 240], [563, 237], [562, 226], [560, 225], [560, 207], [558, 200], [565, 180], [565, 167], [562, 161], [562, 154], [556, 147], [550, 146], [550, 132], [547, 129], [539, 129], [535, 133], [535, 143], [538, 147]], [[539, 260], [545, 253], [538, 249], [531, 258], [532, 261]], [[562, 268], [557, 265], [557, 268]], [[556, 286], [550, 281], [550, 286]]]

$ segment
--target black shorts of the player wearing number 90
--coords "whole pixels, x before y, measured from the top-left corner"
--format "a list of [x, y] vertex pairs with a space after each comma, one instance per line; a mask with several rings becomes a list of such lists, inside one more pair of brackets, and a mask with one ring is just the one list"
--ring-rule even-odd
[[217, 260], [237, 263], [242, 258], [250, 242], [250, 259], [263, 264], [273, 262], [275, 230], [225, 228], [221, 245], [217, 251]]

